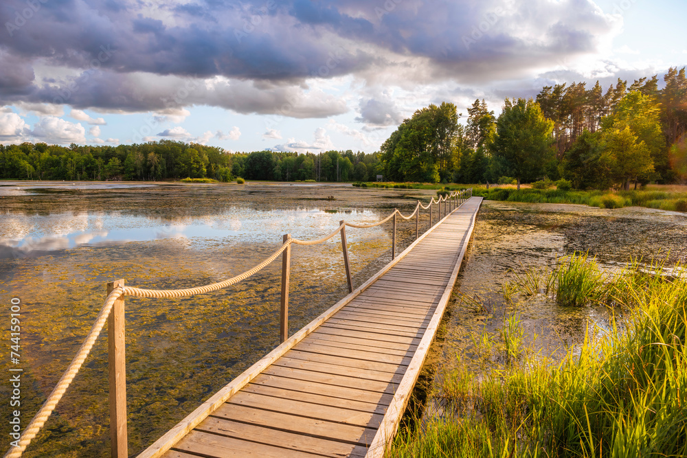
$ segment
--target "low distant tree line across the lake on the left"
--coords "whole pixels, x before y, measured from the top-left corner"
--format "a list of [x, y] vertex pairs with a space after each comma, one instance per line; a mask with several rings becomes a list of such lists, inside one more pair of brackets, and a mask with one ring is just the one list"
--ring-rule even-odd
[[120, 146], [0, 144], [0, 178], [29, 180], [374, 181], [379, 154], [237, 152], [182, 141]]

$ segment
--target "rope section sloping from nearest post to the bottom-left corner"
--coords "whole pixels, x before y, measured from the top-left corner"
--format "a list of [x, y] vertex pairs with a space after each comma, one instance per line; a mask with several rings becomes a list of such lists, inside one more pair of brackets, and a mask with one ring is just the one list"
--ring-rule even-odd
[[74, 356], [74, 359], [71, 360], [71, 363], [69, 364], [69, 367], [67, 367], [65, 374], [63, 374], [62, 378], [60, 378], [60, 381], [57, 382], [57, 386], [52, 390], [52, 393], [50, 393], [50, 396], [47, 397], [47, 400], [43, 402], [41, 410], [34, 415], [29, 425], [21, 434], [21, 437], [19, 437], [19, 447], [10, 448], [8, 453], [5, 454], [5, 458], [21, 457], [21, 454], [24, 452], [24, 450], [26, 450], [26, 447], [38, 434], [38, 431], [41, 431], [41, 428], [43, 428], [43, 425], [47, 421], [48, 417], [52, 414], [52, 411], [55, 410], [55, 407], [57, 407], [57, 403], [60, 402], [60, 399], [62, 399], [65, 391], [67, 391], [67, 388], [71, 384], [71, 380], [74, 380], [74, 377], [76, 374], [78, 374], [78, 371], [81, 368], [81, 365], [84, 363], [84, 360], [91, 352], [91, 348], [93, 347], [95, 340], [98, 339], [100, 331], [102, 331], [105, 321], [107, 321], [107, 317], [109, 317], [113, 304], [123, 295], [123, 293], [124, 292], [122, 291], [122, 288], [116, 288], [112, 291], [112, 293], [110, 293], [107, 299], [105, 299], [105, 304], [102, 306], [98, 317], [95, 319], [95, 323], [93, 323], [91, 332], [89, 332], [88, 336], [86, 336], [86, 340], [81, 344], [81, 347], [79, 348], [76, 356]]

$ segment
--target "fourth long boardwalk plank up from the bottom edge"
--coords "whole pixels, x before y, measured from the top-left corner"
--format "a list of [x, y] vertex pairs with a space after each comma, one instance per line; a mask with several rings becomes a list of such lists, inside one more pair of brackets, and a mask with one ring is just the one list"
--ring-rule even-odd
[[214, 416], [232, 418], [234, 406], [251, 407], [261, 411], [286, 413], [295, 417], [311, 418], [313, 420], [326, 420], [339, 424], [361, 426], [363, 428], [376, 428], [383, 415], [379, 413], [363, 412], [350, 409], [340, 409], [338, 406], [313, 404], [295, 399], [273, 398], [258, 393], [239, 391], [220, 409]]

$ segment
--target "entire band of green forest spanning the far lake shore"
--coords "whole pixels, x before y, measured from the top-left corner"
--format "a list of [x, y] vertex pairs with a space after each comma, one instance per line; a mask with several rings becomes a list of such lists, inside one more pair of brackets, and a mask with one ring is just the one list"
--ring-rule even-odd
[[237, 152], [181, 141], [69, 147], [0, 145], [0, 178], [530, 183], [566, 179], [576, 189], [687, 180], [687, 78], [671, 68], [628, 86], [618, 80], [543, 87], [536, 99], [506, 99], [495, 117], [484, 100], [431, 104], [366, 154]]

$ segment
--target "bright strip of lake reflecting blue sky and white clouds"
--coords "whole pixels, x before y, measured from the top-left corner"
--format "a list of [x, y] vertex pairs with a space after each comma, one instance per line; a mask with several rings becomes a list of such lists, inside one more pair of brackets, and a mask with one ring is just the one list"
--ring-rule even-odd
[[[201, 244], [208, 241], [262, 243], [281, 240], [284, 233], [295, 238], [319, 238], [339, 227], [339, 220], [368, 224], [379, 220], [379, 211], [351, 209], [270, 209], [258, 211], [231, 207], [212, 216], [162, 218], [81, 211], [47, 216], [9, 214], [0, 221], [0, 257], [43, 255], [49, 251], [80, 246], [104, 246], [185, 238]], [[365, 232], [379, 237], [382, 228]]]

